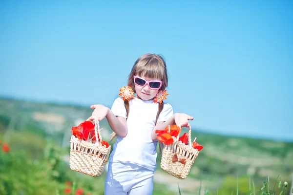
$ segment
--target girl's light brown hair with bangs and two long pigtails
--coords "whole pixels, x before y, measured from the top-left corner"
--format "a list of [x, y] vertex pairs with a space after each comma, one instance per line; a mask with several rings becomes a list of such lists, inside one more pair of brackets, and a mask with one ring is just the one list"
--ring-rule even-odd
[[[134, 85], [134, 76], [146, 77], [146, 78], [160, 78], [163, 83], [160, 90], [165, 90], [168, 85], [168, 76], [167, 76], [167, 66], [164, 58], [158, 54], [144, 54], [140, 56], [134, 63], [131, 72], [128, 76], [127, 85], [135, 91]], [[129, 102], [127, 100], [124, 101], [124, 105], [126, 108], [126, 117], [128, 117], [129, 113]], [[164, 102], [159, 103], [159, 108], [156, 116], [155, 125], [157, 124], [160, 113], [162, 112], [164, 107]], [[113, 132], [111, 134], [110, 141], [116, 137], [116, 134]], [[164, 148], [164, 144], [159, 142], [159, 153], [162, 153]]]

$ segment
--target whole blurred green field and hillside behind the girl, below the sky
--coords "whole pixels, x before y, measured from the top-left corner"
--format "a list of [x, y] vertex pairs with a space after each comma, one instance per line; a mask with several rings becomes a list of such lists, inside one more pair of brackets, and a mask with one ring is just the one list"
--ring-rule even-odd
[[[67, 188], [72, 194], [77, 190], [83, 195], [103, 195], [105, 172], [99, 177], [87, 176], [70, 170], [68, 162], [71, 127], [91, 112], [81, 106], [0, 98], [0, 147], [6, 142], [10, 149], [0, 150], [0, 195], [63, 195]], [[105, 120], [100, 125], [107, 140], [110, 128]], [[278, 175], [274, 191], [285, 190], [283, 183], [288, 181], [289, 192], [293, 142], [219, 136], [193, 129], [192, 139], [195, 136], [204, 149], [186, 179], [163, 172], [158, 156], [154, 195], [178, 195], [178, 185], [182, 195], [249, 195], [253, 185], [257, 195], [262, 187], [272, 194]]]

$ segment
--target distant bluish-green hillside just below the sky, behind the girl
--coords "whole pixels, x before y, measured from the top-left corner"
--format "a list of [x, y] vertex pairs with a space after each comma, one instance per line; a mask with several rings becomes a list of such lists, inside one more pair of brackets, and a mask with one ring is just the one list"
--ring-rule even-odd
[[[68, 147], [71, 127], [77, 126], [91, 113], [92, 110], [84, 106], [0, 98], [0, 133], [27, 131]], [[104, 129], [103, 139], [108, 140], [112, 131], [105, 119], [100, 126]], [[204, 176], [206, 181], [212, 181], [207, 185], [215, 188], [222, 185], [226, 176], [250, 175], [261, 184], [265, 176], [275, 178], [281, 174], [282, 178], [289, 178], [293, 172], [293, 142], [192, 130], [192, 140], [197, 137], [196, 141], [204, 146], [189, 173], [192, 182]], [[183, 132], [187, 132], [187, 128], [183, 128]], [[160, 155], [157, 160], [160, 166]]]

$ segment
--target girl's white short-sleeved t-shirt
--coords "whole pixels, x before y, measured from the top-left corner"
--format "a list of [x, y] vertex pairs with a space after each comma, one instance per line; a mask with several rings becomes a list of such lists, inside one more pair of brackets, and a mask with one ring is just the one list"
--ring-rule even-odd
[[[155, 171], [157, 164], [157, 143], [152, 141], [151, 132], [155, 126], [159, 104], [153, 100], [133, 98], [129, 101], [126, 137], [116, 137], [109, 162], [129, 162]], [[116, 98], [111, 111], [115, 116], [126, 118], [126, 109], [122, 98]], [[172, 106], [164, 102], [164, 108], [158, 121], [166, 121], [173, 115]]]

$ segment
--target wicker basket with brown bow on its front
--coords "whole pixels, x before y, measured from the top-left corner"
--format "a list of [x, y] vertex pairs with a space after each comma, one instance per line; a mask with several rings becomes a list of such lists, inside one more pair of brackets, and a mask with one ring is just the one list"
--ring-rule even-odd
[[199, 151], [192, 148], [190, 125], [188, 129], [188, 145], [178, 141], [178, 138], [179, 135], [174, 138], [174, 142], [171, 145], [165, 145], [162, 152], [161, 169], [171, 176], [185, 179]]

